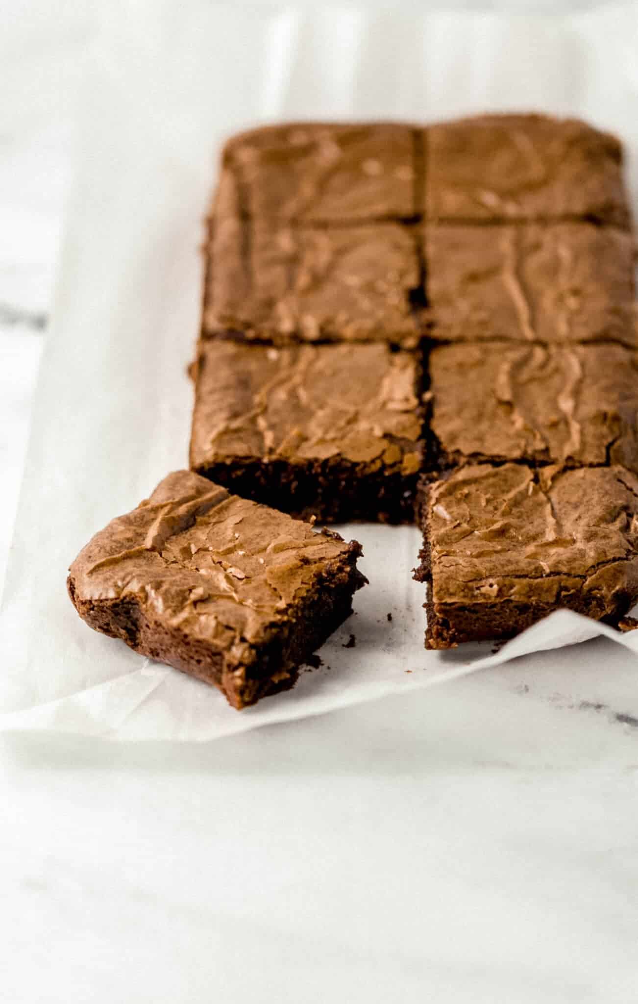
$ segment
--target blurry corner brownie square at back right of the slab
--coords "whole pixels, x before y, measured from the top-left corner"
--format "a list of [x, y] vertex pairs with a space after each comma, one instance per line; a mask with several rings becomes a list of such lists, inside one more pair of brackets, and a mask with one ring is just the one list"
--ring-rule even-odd
[[576, 119], [490, 114], [426, 133], [429, 219], [588, 218], [629, 227], [618, 140]]

